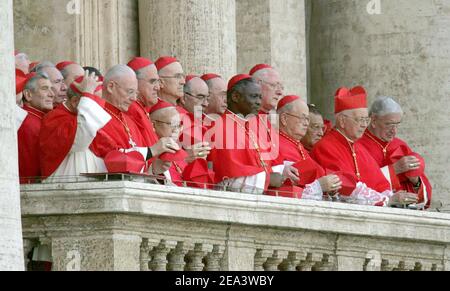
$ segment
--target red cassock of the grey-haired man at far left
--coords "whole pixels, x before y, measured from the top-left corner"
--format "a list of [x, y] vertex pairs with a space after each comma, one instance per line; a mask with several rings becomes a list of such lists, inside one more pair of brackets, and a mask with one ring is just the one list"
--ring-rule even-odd
[[17, 132], [19, 146], [19, 176], [21, 184], [36, 183], [41, 177], [39, 134], [45, 113], [24, 105], [28, 115]]

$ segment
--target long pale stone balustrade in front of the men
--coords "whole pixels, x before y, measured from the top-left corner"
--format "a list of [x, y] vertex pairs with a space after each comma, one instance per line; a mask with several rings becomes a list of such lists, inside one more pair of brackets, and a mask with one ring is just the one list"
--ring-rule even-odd
[[450, 215], [132, 181], [22, 187], [53, 269], [450, 270]]

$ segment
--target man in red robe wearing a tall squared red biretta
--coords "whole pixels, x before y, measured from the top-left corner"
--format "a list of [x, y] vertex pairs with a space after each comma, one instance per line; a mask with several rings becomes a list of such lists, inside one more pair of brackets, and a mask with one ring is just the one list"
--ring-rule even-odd
[[[342, 173], [354, 181], [344, 196], [352, 195], [357, 183], [378, 193], [392, 195], [391, 185], [371, 154], [357, 141], [368, 124], [367, 94], [364, 88], [341, 88], [335, 97], [336, 127], [313, 148], [311, 157], [327, 173]], [[344, 193], [346, 192], [346, 193]], [[388, 198], [388, 197], [387, 197]]]

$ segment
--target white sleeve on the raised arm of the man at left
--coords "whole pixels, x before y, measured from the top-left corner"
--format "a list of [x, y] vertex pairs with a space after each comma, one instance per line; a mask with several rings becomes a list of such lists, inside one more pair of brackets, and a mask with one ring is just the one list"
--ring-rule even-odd
[[84, 152], [94, 141], [97, 132], [109, 121], [111, 116], [94, 100], [81, 97], [78, 105], [77, 133], [70, 152]]

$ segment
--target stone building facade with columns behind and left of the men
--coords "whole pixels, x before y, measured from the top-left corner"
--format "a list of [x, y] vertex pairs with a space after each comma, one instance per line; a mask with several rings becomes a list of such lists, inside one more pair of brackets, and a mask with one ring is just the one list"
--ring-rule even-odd
[[448, 1], [3, 0], [0, 16], [0, 191], [6, 197], [0, 228], [11, 233], [8, 240], [0, 236], [0, 269], [3, 262], [23, 265], [15, 260], [22, 245], [11, 146], [14, 47], [31, 60], [73, 60], [102, 70], [136, 55], [173, 55], [187, 73], [226, 78], [270, 63], [286, 93], [319, 105], [329, 118], [338, 87], [363, 85], [371, 100], [400, 101], [406, 113], [400, 137], [425, 157], [435, 205], [450, 203]]

